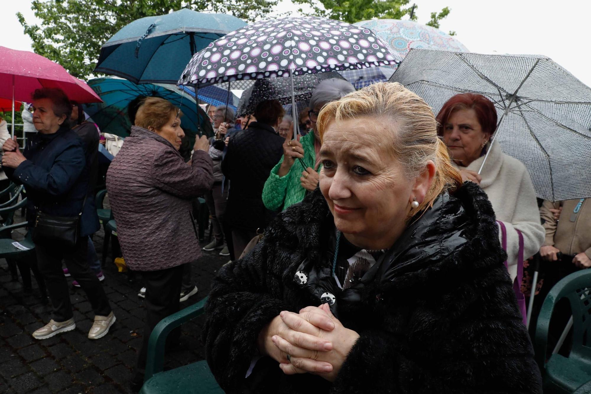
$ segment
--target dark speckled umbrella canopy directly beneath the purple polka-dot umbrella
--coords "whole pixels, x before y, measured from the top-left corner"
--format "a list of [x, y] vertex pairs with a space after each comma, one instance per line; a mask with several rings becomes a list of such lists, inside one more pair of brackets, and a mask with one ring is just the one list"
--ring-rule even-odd
[[[336, 72], [294, 76], [293, 90], [296, 102], [309, 102], [316, 86], [329, 78], [345, 79]], [[256, 106], [265, 100], [277, 99], [281, 105], [291, 104], [291, 88], [289, 78], [257, 79], [251, 88], [242, 93], [236, 115], [241, 117], [254, 114]]]

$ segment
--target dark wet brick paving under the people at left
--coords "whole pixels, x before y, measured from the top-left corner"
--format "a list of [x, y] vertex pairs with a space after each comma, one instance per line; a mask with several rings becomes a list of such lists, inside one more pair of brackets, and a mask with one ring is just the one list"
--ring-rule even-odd
[[[18, 237], [22, 234], [14, 234], [15, 239]], [[102, 231], [95, 235], [94, 241], [100, 257]], [[227, 257], [217, 253], [203, 252], [202, 259], [193, 267], [199, 293], [181, 305], [189, 306], [206, 296], [213, 275], [226, 261]], [[142, 280], [138, 274], [134, 282], [128, 282], [126, 274], [117, 272], [110, 254], [103, 272], [106, 276], [103, 287], [117, 317], [109, 334], [96, 341], [87, 339], [94, 318], [92, 308], [83, 290], [72, 286], [70, 298], [76, 330], [37, 341], [31, 333], [49, 321], [50, 309], [41, 305], [34, 279], [33, 294], [23, 292], [22, 282], [12, 282], [7, 262], [0, 260], [0, 309], [4, 309], [0, 315], [0, 392], [130, 392], [128, 382], [141, 345], [145, 317], [142, 299], [137, 296]], [[200, 340], [202, 324], [203, 319], [199, 318], [182, 326], [189, 346], [168, 354], [167, 369], [204, 358]]]

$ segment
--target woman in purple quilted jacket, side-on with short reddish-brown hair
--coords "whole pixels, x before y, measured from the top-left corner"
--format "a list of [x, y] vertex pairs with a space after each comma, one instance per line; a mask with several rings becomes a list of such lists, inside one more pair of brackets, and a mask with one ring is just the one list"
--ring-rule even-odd
[[[213, 184], [207, 137], [195, 141], [189, 163], [178, 153], [184, 137], [181, 115], [164, 99], [146, 98], [107, 173], [125, 263], [142, 272], [146, 286], [144, 343], [132, 382], [137, 389], [144, 380], [152, 330], [179, 309], [183, 264], [201, 256], [191, 200]], [[171, 340], [178, 340], [178, 334]]]

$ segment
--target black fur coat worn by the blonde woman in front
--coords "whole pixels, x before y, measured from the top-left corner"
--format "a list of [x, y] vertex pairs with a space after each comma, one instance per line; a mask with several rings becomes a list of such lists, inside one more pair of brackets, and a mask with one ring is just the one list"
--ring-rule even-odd
[[360, 337], [334, 383], [285, 376], [269, 357], [245, 378], [259, 331], [283, 310], [320, 305], [319, 294], [334, 289], [330, 277], [294, 280], [302, 267], [317, 273], [332, 267], [334, 232], [316, 190], [278, 215], [251, 253], [217, 274], [203, 338], [226, 392], [541, 393], [495, 214], [470, 182], [411, 221], [356, 286], [335, 290], [333, 312]]

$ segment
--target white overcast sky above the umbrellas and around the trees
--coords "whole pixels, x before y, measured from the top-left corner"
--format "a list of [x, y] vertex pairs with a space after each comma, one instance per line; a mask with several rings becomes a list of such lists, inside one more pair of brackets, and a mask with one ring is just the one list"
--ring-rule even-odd
[[[219, 0], [213, 0], [219, 1]], [[411, 0], [412, 2], [413, 0]], [[441, 30], [454, 30], [457, 39], [478, 53], [544, 54], [591, 86], [589, 18], [591, 0], [414, 0], [418, 22], [426, 23], [431, 11], [450, 7]], [[16, 13], [34, 20], [30, 0], [3, 1], [0, 45], [31, 50]], [[293, 9], [283, 0], [280, 9]]]

